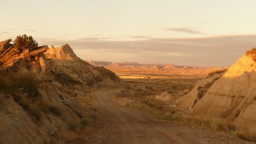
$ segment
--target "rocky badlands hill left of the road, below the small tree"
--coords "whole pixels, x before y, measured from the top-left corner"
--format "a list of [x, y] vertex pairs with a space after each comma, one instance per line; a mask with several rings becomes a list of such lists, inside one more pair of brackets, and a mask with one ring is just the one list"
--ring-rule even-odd
[[69, 45], [21, 51], [0, 42], [0, 143], [55, 143], [92, 112], [77, 99], [122, 86], [113, 72], [77, 58]]

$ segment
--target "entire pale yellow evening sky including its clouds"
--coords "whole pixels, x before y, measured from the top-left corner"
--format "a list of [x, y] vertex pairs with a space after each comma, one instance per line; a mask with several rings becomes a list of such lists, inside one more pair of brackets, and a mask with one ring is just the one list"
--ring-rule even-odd
[[32, 35], [87, 61], [230, 67], [256, 47], [255, 0], [0, 0], [0, 41]]

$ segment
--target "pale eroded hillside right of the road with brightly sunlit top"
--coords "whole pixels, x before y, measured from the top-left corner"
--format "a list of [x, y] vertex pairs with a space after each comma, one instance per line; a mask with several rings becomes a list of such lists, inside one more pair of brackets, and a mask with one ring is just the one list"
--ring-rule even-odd
[[210, 74], [177, 100], [192, 115], [227, 118], [256, 131], [256, 49], [246, 52], [228, 70]]

